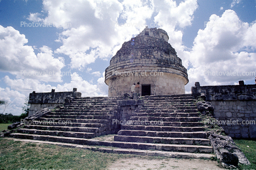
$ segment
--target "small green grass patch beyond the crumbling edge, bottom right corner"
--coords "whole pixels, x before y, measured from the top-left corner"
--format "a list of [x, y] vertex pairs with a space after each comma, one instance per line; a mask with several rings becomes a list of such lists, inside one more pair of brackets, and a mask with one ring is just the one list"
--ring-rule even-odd
[[[251, 165], [239, 165], [239, 169], [256, 169], [256, 141], [234, 140], [244, 152]], [[249, 146], [249, 147], [248, 147]]]

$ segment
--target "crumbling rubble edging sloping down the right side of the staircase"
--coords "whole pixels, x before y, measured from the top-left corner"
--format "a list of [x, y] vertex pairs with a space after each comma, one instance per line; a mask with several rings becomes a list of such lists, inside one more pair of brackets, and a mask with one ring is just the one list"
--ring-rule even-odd
[[[201, 101], [201, 99], [203, 99]], [[204, 101], [204, 95], [200, 96], [200, 101], [197, 101], [197, 108], [201, 115], [213, 115], [214, 107], [211, 102]], [[212, 116], [211, 116], [212, 117]], [[209, 127], [211, 129], [211, 127]], [[236, 168], [238, 163], [243, 165], [250, 165], [250, 161], [246, 155], [236, 146], [235, 142], [230, 136], [217, 134], [210, 130], [207, 133], [211, 146], [213, 146], [214, 153], [224, 168]]]

